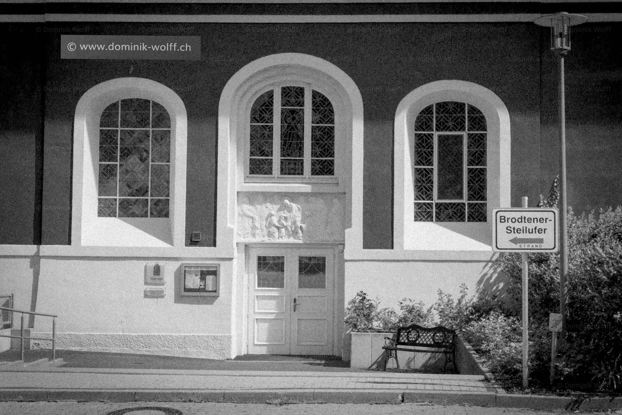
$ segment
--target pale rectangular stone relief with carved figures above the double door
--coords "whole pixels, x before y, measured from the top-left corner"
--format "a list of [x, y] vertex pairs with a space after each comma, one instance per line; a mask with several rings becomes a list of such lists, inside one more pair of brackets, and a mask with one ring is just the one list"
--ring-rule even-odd
[[238, 241], [342, 242], [341, 194], [238, 194]]

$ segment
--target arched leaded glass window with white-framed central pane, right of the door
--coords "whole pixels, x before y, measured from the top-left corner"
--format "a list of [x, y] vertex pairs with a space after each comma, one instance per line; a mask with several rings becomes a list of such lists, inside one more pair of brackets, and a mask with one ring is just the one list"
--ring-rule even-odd
[[428, 105], [414, 125], [418, 222], [486, 222], [486, 117], [473, 105]]

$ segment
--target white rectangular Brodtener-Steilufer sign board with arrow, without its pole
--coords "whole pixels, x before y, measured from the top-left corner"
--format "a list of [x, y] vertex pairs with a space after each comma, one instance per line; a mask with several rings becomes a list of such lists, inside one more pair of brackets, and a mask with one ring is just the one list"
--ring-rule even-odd
[[559, 211], [555, 208], [493, 209], [494, 252], [557, 252]]

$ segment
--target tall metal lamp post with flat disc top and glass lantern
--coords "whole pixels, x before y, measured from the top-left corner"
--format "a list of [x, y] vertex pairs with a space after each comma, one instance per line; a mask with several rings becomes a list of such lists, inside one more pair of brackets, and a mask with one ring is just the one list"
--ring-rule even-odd
[[566, 328], [568, 295], [568, 201], [566, 195], [566, 113], [564, 91], [564, 56], [570, 52], [570, 27], [587, 22], [580, 14], [559, 12], [538, 17], [534, 23], [550, 27], [550, 50], [559, 56], [559, 141], [560, 141], [560, 256], [559, 312], [562, 315], [562, 338]]

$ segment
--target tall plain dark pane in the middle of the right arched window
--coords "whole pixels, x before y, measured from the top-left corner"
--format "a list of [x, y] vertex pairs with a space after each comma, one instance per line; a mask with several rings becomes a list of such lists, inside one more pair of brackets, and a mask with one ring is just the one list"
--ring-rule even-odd
[[463, 136], [439, 135], [438, 138], [437, 200], [464, 197]]

